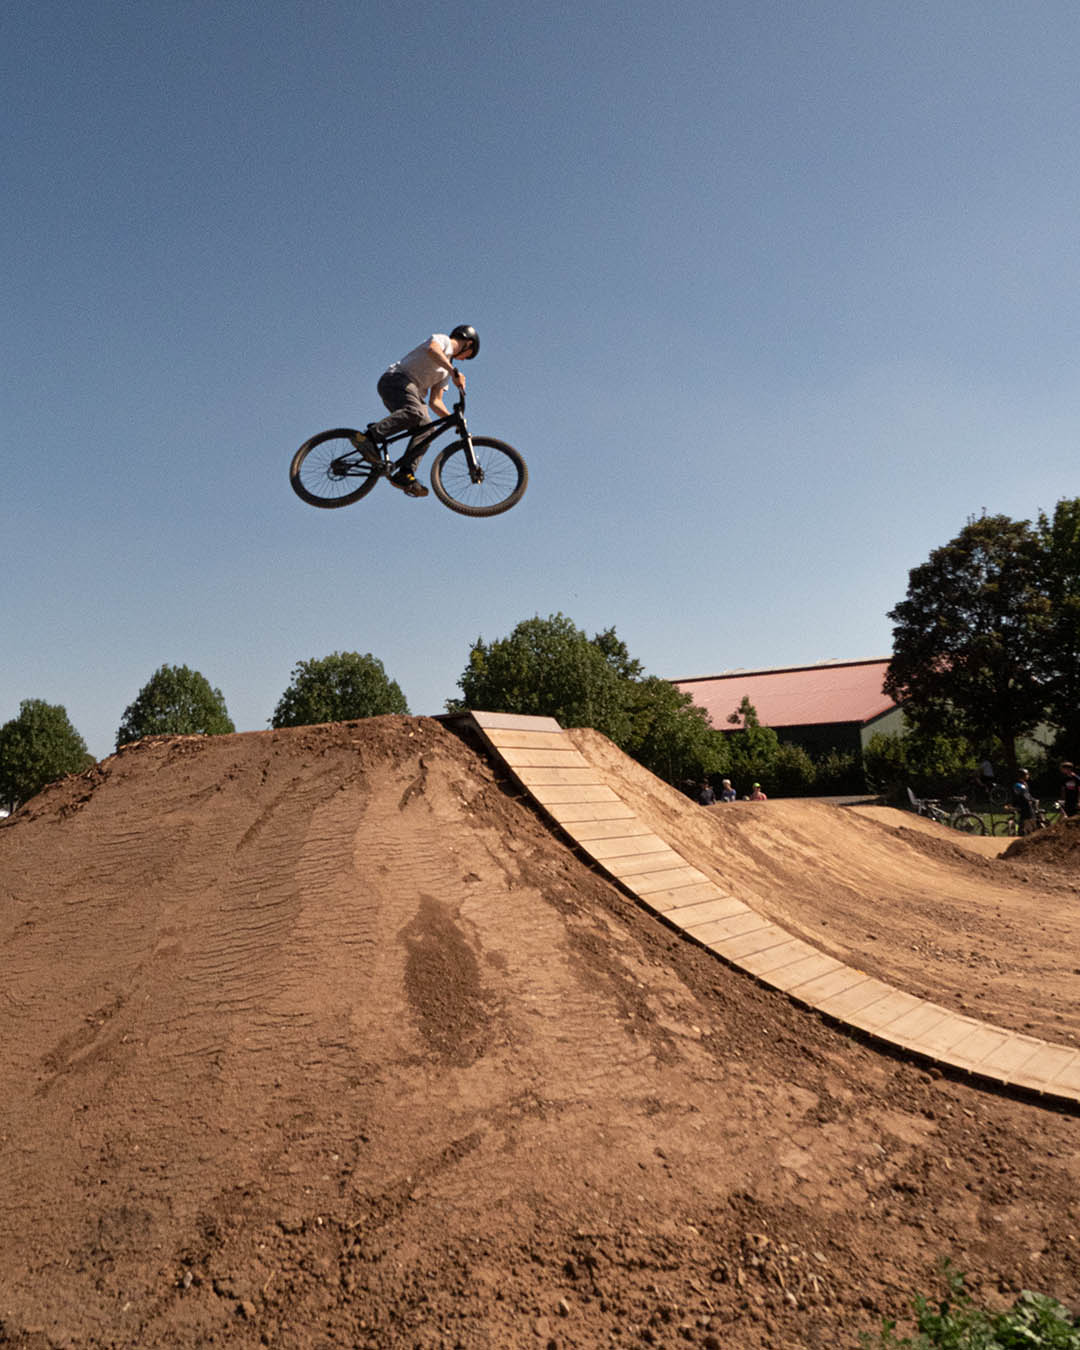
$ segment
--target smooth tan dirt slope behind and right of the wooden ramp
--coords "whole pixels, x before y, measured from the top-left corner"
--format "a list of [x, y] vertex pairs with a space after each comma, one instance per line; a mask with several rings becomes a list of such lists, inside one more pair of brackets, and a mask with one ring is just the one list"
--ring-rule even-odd
[[888, 807], [701, 807], [595, 732], [571, 736], [657, 834], [791, 933], [969, 1017], [1080, 1044], [1075, 873], [998, 859], [1006, 840]]

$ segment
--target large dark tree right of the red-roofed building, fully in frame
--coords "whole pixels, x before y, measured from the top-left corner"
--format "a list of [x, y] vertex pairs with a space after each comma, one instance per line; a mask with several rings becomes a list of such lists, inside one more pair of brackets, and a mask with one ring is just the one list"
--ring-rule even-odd
[[1017, 740], [1042, 721], [1037, 653], [1049, 621], [1041, 551], [1029, 521], [981, 516], [913, 568], [894, 621], [886, 693], [921, 730]]

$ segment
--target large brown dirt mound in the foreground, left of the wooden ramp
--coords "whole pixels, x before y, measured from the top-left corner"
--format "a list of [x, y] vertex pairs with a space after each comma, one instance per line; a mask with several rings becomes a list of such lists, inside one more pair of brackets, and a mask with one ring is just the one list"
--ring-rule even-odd
[[0, 1345], [794, 1350], [942, 1256], [1077, 1301], [1075, 1118], [726, 969], [429, 720], [42, 794], [0, 1010]]

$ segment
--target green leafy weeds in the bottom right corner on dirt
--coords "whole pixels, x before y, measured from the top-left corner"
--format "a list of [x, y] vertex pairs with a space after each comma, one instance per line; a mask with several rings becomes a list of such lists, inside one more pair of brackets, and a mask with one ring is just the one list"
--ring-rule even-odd
[[915, 1297], [914, 1336], [902, 1341], [886, 1322], [865, 1350], [1080, 1350], [1080, 1322], [1064, 1304], [1025, 1289], [1006, 1312], [979, 1308], [964, 1289], [964, 1276], [945, 1266], [946, 1296], [937, 1304]]

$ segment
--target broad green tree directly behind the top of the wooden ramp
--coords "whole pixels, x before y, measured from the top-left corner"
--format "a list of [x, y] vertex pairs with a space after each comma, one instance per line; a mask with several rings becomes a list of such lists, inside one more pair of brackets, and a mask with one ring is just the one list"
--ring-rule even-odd
[[447, 707], [554, 717], [563, 726], [593, 726], [624, 745], [630, 682], [621, 668], [628, 663], [614, 629], [590, 641], [564, 614], [537, 616], [522, 620], [509, 637], [477, 639], [458, 680], [462, 698]]

